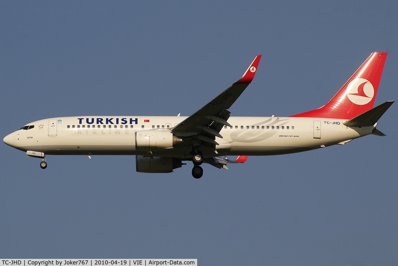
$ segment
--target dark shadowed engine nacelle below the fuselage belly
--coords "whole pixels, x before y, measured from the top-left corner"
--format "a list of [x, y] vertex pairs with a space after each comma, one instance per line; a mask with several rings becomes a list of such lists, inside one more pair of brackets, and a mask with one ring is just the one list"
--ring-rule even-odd
[[172, 157], [135, 156], [135, 167], [140, 173], [171, 173], [181, 166], [181, 160]]

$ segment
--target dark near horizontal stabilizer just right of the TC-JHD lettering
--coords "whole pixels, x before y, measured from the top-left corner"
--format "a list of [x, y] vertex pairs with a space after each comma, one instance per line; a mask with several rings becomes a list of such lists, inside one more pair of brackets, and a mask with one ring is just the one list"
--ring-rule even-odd
[[344, 122], [343, 124], [347, 127], [367, 127], [375, 125], [377, 120], [387, 111], [387, 109], [393, 104], [394, 101], [384, 102], [375, 108], [360, 114], [359, 116]]

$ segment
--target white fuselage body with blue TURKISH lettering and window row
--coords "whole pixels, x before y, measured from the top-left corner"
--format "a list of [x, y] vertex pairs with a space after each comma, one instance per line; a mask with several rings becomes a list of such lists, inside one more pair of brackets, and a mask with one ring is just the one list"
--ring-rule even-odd
[[[136, 149], [135, 133], [170, 131], [183, 116], [81, 116], [39, 120], [8, 135], [15, 148], [59, 155], [148, 155], [190, 157], [191, 144], [145, 152]], [[144, 122], [149, 121], [149, 122]], [[347, 127], [347, 120], [293, 117], [230, 117], [216, 137], [219, 155], [276, 155], [345, 143], [372, 133], [374, 127]], [[14, 135], [13, 135], [14, 134]], [[203, 149], [205, 155], [206, 149]], [[210, 150], [209, 155], [213, 156]]]

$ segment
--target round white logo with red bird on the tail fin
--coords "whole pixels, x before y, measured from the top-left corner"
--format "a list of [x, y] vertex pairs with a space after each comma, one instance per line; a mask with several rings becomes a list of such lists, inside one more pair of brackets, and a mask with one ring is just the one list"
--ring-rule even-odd
[[354, 104], [368, 104], [374, 95], [375, 89], [367, 79], [354, 79], [347, 85], [347, 97]]

